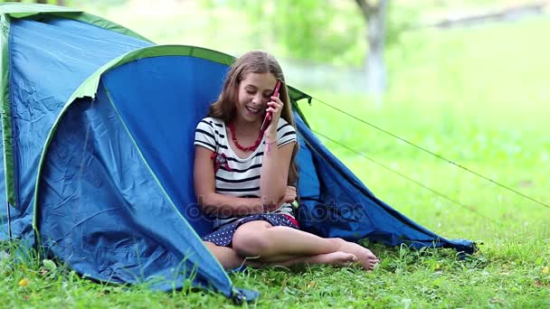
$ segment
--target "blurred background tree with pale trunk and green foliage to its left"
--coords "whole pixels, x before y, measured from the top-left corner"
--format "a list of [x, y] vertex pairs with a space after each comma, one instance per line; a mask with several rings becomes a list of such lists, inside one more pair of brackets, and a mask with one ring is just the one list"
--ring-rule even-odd
[[[207, 0], [206, 0], [207, 1]], [[219, 4], [211, 0], [210, 4]], [[226, 3], [246, 11], [258, 40], [276, 38], [291, 58], [362, 65], [367, 92], [381, 102], [387, 77], [384, 47], [388, 36], [400, 29], [388, 28], [387, 0], [232, 0]], [[389, 33], [388, 33], [389, 32]], [[388, 35], [390, 34], [390, 35]], [[269, 46], [270, 42], [256, 42]]]

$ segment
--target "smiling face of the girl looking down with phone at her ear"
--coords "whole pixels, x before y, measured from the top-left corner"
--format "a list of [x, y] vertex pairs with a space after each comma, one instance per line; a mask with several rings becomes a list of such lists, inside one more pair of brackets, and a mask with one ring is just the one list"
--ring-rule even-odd
[[239, 84], [236, 117], [261, 122], [277, 80], [271, 73], [248, 73]]

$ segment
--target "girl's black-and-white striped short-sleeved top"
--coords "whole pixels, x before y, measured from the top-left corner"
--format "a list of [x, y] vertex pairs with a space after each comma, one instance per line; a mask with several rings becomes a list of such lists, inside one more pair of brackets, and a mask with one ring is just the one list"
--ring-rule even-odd
[[[262, 137], [258, 148], [247, 158], [242, 159], [235, 155], [229, 145], [223, 120], [206, 117], [199, 122], [194, 131], [194, 145], [210, 149], [219, 156], [224, 155], [227, 162], [227, 165], [220, 164], [220, 168], [215, 172], [217, 193], [235, 197], [261, 197], [260, 173], [265, 148], [264, 139], [265, 136]], [[286, 120], [280, 118], [277, 126], [277, 144], [280, 147], [291, 142], [296, 142], [296, 130]], [[229, 166], [229, 169], [226, 166]], [[283, 213], [294, 217], [292, 206], [289, 203], [282, 204], [279, 209], [271, 213]], [[217, 213], [214, 217], [213, 227], [217, 229], [223, 224], [240, 218], [242, 217]]]

